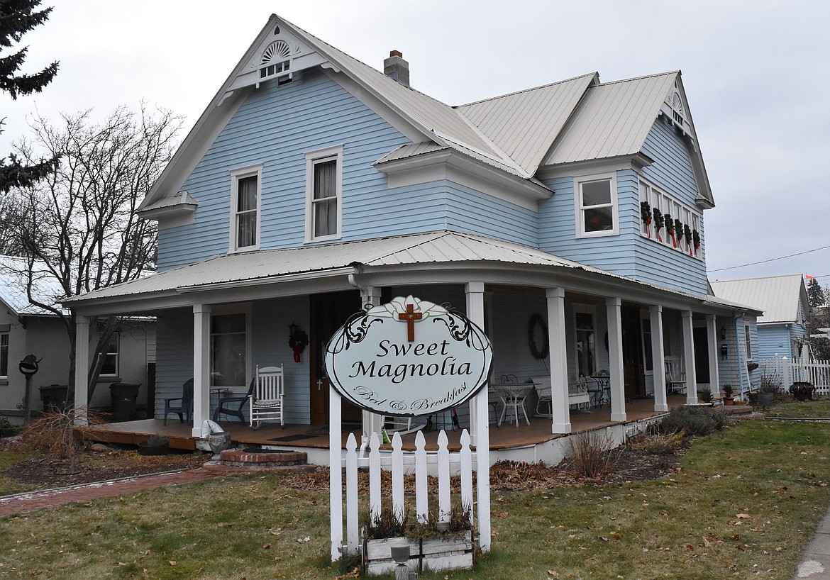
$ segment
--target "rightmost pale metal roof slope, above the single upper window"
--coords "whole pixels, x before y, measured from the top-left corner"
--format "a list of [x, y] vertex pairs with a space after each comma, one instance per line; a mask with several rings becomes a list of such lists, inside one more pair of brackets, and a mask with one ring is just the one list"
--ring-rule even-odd
[[637, 154], [679, 72], [588, 88], [543, 165]]

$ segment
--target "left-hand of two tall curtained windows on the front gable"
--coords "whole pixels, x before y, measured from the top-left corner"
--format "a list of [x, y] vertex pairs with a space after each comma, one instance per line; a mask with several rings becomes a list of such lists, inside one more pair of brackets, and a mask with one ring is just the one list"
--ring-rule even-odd
[[262, 165], [231, 171], [231, 251], [258, 250]]

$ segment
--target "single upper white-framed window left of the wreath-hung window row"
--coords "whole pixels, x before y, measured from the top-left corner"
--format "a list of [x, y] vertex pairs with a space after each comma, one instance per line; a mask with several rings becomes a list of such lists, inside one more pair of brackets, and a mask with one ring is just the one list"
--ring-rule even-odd
[[617, 176], [613, 173], [574, 179], [578, 237], [619, 233]]

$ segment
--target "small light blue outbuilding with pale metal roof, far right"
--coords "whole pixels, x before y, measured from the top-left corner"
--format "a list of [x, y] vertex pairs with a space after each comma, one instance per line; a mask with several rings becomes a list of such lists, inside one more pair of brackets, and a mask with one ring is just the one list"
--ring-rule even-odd
[[713, 281], [715, 295], [762, 310], [757, 358], [808, 357], [804, 341], [810, 305], [800, 274]]

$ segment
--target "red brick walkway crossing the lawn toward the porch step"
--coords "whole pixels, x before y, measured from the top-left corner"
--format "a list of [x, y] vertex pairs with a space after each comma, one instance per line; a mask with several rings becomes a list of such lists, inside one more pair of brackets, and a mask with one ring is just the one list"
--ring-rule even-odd
[[144, 475], [122, 480], [105, 481], [86, 485], [55, 490], [32, 491], [31, 493], [12, 495], [0, 498], [0, 517], [12, 514], [25, 514], [43, 508], [56, 508], [76, 501], [97, 500], [102, 497], [134, 493], [140, 490], [149, 490], [167, 485], [183, 485], [193, 481], [208, 480], [213, 477], [223, 477], [242, 472], [238, 469], [227, 469], [219, 466], [198, 468], [185, 471], [175, 471], [159, 475]]

